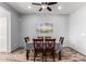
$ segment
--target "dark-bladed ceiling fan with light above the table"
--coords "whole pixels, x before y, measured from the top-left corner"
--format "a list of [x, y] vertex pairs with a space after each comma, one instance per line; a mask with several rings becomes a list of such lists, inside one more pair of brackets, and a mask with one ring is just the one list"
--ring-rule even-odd
[[57, 4], [58, 2], [39, 2], [39, 3], [36, 3], [36, 2], [33, 2], [32, 4], [34, 5], [41, 5], [41, 8], [39, 9], [39, 11], [41, 11], [42, 9], [47, 9], [48, 11], [52, 11], [51, 8], [49, 5], [53, 5], [53, 4]]

